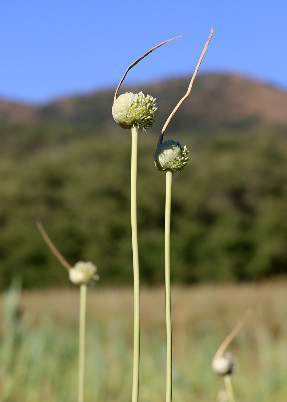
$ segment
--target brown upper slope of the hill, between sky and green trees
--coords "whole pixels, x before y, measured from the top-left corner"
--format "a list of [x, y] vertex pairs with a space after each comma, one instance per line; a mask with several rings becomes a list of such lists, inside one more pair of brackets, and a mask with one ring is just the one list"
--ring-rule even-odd
[[[124, 87], [122, 92], [142, 90], [157, 98], [155, 129], [185, 94], [190, 78]], [[121, 93], [122, 93], [121, 92]], [[0, 120], [88, 124], [115, 130], [111, 117], [114, 90], [89, 96], [63, 98], [44, 107], [25, 107], [0, 102]], [[198, 76], [190, 96], [173, 117], [169, 130], [252, 129], [287, 127], [287, 92], [250, 78], [231, 74]]]

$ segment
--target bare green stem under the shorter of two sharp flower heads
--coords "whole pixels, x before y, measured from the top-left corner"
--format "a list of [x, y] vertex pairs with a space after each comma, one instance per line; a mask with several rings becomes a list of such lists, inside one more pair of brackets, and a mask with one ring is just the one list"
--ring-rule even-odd
[[166, 402], [171, 402], [172, 350], [171, 350], [171, 302], [170, 302], [170, 210], [172, 171], [166, 172], [165, 187], [165, 317], [166, 317]]

